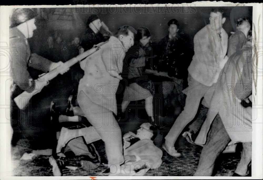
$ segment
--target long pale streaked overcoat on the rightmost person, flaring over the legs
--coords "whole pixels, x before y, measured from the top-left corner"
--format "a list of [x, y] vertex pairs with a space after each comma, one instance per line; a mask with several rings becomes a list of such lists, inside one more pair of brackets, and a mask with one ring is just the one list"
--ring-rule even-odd
[[241, 104], [241, 99], [252, 93], [252, 47], [240, 31], [229, 40], [230, 57], [216, 83], [207, 118], [195, 140], [197, 144], [205, 144], [218, 113], [232, 143], [252, 141], [252, 108]]

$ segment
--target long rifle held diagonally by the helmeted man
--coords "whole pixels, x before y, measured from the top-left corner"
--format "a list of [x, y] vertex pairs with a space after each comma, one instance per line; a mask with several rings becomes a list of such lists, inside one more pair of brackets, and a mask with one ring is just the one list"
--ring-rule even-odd
[[[93, 48], [89, 49], [88, 51], [85, 51], [84, 53], [79, 54], [78, 56], [68, 60], [67, 62], [64, 63], [65, 69], [73, 66], [75, 63], [82, 61], [84, 58], [98, 51], [100, 47], [107, 42], [108, 41], [96, 44], [93, 46]], [[58, 71], [58, 68], [59, 67], [53, 69], [48, 73], [43, 73], [39, 75], [39, 78], [37, 80], [49, 82], [51, 79], [55, 78], [60, 73], [60, 71]], [[24, 109], [29, 103], [30, 99], [37, 93], [38, 92], [29, 93], [27, 91], [24, 91], [23, 93], [19, 94], [17, 97], [14, 98], [14, 102], [16, 103], [19, 109]]]

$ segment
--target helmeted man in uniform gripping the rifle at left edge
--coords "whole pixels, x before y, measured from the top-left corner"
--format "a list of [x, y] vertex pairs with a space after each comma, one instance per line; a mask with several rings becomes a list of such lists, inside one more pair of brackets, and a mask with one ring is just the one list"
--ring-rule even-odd
[[[35, 25], [35, 17], [37, 17], [37, 15], [38, 14], [31, 8], [18, 8], [14, 10], [10, 19], [10, 53], [13, 56], [18, 54], [17, 56], [14, 56], [14, 58], [11, 58], [11, 75], [14, 75], [11, 86], [11, 120], [14, 122], [12, 123], [14, 132], [21, 131], [19, 124], [21, 124], [22, 121], [29, 121], [30, 112], [19, 110], [13, 99], [23, 91], [36, 94], [47, 85], [47, 82], [45, 81], [33, 80], [27, 68], [32, 67], [43, 72], [48, 72], [58, 67], [60, 74], [63, 74], [68, 70], [68, 68], [64, 68], [62, 62], [54, 63], [35, 53], [31, 54], [27, 39], [33, 36], [33, 31], [37, 28]], [[19, 137], [19, 134], [13, 135], [13, 145], [19, 140], [17, 137]]]

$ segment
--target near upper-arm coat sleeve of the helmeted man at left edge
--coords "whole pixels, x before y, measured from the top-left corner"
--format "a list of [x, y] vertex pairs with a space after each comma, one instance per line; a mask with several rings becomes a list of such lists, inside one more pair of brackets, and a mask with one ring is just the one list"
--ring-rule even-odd
[[[29, 91], [29, 87], [33, 84], [29, 82], [32, 79], [29, 72], [27, 71], [28, 57], [27, 57], [27, 46], [23, 42], [15, 42], [16, 46], [21, 49], [20, 58], [12, 58], [12, 69], [11, 73], [15, 75], [13, 83], [19, 86], [24, 91]], [[12, 39], [10, 39], [10, 44], [12, 44]], [[14, 48], [10, 48], [11, 54], [14, 54]]]

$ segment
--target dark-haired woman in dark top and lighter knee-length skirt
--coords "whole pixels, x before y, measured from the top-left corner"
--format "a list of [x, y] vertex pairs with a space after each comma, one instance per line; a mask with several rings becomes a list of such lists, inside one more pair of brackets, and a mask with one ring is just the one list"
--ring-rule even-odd
[[131, 47], [125, 55], [122, 76], [127, 82], [124, 90], [122, 112], [125, 112], [131, 101], [145, 99], [145, 110], [148, 116], [153, 118], [153, 94], [154, 84], [144, 75], [145, 63], [150, 61], [151, 33], [146, 27], [139, 27], [134, 40], [134, 46]]

